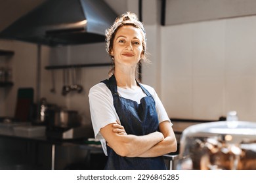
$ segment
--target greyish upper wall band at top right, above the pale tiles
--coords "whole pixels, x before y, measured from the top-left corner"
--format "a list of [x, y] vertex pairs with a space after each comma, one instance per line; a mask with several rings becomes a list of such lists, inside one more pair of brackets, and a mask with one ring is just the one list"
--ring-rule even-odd
[[254, 0], [166, 1], [165, 25], [255, 15]]

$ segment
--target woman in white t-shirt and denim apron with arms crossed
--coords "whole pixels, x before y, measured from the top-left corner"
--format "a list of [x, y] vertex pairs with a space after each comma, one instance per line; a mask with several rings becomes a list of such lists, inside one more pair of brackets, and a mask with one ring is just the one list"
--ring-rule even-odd
[[91, 88], [95, 138], [108, 156], [105, 169], [166, 169], [163, 155], [177, 150], [172, 124], [155, 90], [136, 80], [146, 59], [146, 34], [136, 14], [126, 12], [106, 29], [112, 76]]

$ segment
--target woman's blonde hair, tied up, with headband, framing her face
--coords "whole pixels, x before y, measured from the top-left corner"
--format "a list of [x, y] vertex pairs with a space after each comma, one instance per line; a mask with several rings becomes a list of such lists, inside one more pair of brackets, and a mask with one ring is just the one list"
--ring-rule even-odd
[[113, 41], [114, 37], [116, 35], [117, 30], [119, 27], [122, 27], [124, 25], [132, 25], [134, 27], [137, 27], [141, 30], [142, 33], [142, 59], [140, 59], [140, 64], [142, 61], [150, 63], [150, 61], [146, 58], [146, 32], [144, 30], [143, 24], [138, 20], [138, 17], [133, 12], [125, 12], [124, 14], [121, 14], [121, 16], [118, 16], [114, 22], [113, 25], [110, 26], [110, 28], [106, 29], [105, 35], [106, 35], [106, 52], [108, 52], [108, 55], [112, 59], [112, 69], [110, 69], [109, 74], [112, 74], [115, 70], [114, 65], [114, 57], [111, 54], [111, 51], [113, 49]]

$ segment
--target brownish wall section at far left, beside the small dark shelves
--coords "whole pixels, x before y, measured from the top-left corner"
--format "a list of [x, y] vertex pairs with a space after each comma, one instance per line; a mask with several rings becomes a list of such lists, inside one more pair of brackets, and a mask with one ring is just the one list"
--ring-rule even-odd
[[14, 56], [1, 57], [5, 67], [12, 69], [14, 86], [0, 88], [0, 116], [14, 116], [17, 90], [20, 87], [36, 88], [37, 46], [18, 41], [0, 41], [0, 48], [14, 51]]

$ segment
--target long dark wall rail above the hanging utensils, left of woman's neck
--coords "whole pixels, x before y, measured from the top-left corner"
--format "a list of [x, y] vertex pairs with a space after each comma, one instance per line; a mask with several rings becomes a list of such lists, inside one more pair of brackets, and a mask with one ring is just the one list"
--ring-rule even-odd
[[74, 64], [74, 65], [51, 65], [46, 66], [45, 69], [71, 69], [79, 67], [103, 67], [110, 66], [112, 63], [87, 63], [87, 64]]

